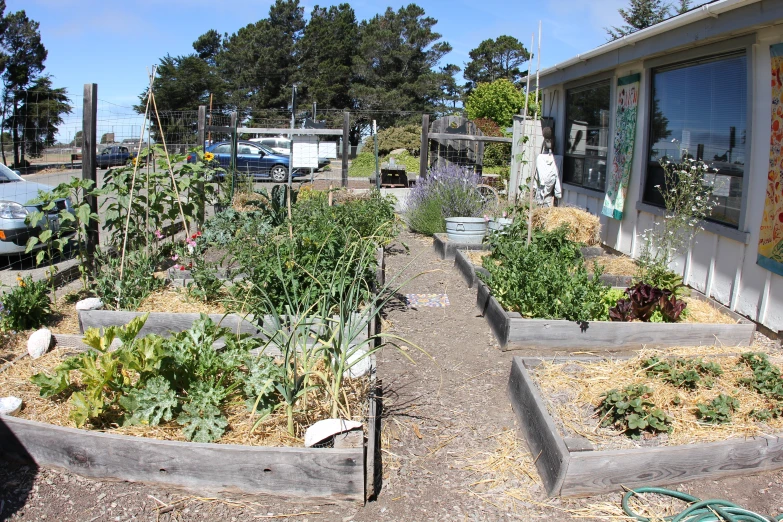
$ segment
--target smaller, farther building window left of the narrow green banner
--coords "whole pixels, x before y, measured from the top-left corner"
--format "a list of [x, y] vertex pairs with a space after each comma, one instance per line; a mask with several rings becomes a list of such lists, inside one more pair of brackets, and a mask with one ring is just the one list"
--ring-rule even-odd
[[566, 91], [565, 183], [604, 190], [610, 100], [609, 80]]

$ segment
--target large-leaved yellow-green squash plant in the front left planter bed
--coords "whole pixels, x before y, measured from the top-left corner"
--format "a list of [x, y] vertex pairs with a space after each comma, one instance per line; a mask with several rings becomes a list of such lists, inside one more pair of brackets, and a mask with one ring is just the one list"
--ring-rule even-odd
[[[88, 330], [84, 342], [90, 351], [66, 359], [53, 375], [34, 375], [32, 382], [43, 397], [70, 393], [70, 418], [77, 427], [115, 421], [155, 426], [176, 419], [188, 440], [219, 439], [228, 425], [221, 408], [241, 387], [241, 362], [260, 341], [233, 335], [204, 315], [168, 339], [137, 338], [147, 316], [107, 327], [102, 335]], [[112, 351], [115, 339], [120, 346]], [[220, 351], [212, 346], [218, 339], [225, 342]], [[78, 372], [78, 385], [72, 372]]]

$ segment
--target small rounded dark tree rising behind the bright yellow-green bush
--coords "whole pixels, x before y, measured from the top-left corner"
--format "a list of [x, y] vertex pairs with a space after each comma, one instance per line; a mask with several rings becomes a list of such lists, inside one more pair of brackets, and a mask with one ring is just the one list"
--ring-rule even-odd
[[523, 74], [519, 67], [530, 58], [522, 42], [507, 35], [484, 40], [469, 54], [470, 62], [465, 66], [468, 89], [500, 78], [518, 83]]

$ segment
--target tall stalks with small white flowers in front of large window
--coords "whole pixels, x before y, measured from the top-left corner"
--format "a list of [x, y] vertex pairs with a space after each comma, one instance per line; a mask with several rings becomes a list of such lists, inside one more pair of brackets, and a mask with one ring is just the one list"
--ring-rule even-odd
[[671, 262], [685, 253], [717, 204], [714, 198], [717, 169], [703, 161], [685, 158], [680, 163], [661, 160], [664, 185], [656, 185], [666, 207], [663, 219], [642, 234], [639, 279], [654, 284], [670, 273]]

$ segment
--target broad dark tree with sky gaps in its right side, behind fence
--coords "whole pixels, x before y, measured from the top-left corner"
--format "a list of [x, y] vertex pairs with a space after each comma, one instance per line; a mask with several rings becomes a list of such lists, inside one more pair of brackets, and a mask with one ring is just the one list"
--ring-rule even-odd
[[[422, 112], [435, 106], [442, 77], [433, 68], [451, 51], [433, 30], [437, 23], [409, 4], [360, 24], [351, 85], [356, 109]], [[379, 115], [379, 125], [390, 126], [393, 118]]]

